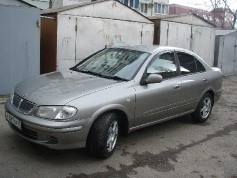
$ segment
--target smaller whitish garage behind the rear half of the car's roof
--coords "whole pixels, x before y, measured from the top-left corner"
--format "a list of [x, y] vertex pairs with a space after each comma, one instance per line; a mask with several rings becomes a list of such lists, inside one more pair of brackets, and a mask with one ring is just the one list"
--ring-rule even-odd
[[214, 63], [215, 26], [195, 14], [152, 17], [154, 44], [193, 51], [210, 66]]

